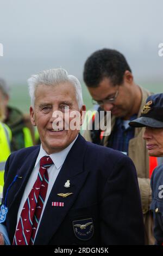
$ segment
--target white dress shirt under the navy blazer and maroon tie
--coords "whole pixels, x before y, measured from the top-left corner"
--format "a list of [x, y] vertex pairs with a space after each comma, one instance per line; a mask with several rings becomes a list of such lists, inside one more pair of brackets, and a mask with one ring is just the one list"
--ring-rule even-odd
[[[76, 137], [76, 139], [78, 138], [78, 136]], [[18, 209], [18, 213], [17, 213], [17, 225], [18, 225], [18, 221], [20, 219], [21, 216], [21, 212], [23, 209], [24, 204], [26, 203], [26, 200], [28, 198], [28, 195], [30, 193], [30, 191], [32, 190], [34, 183], [37, 179], [37, 175], [39, 173], [39, 168], [40, 168], [40, 159], [44, 156], [49, 156], [51, 157], [52, 161], [54, 164], [52, 164], [48, 169], [48, 176], [49, 176], [49, 182], [48, 182], [48, 188], [47, 188], [47, 193], [46, 193], [46, 198], [45, 198], [45, 202], [43, 204], [43, 209], [41, 212], [41, 217], [39, 219], [39, 223], [37, 225], [37, 230], [39, 229], [39, 225], [40, 225], [40, 221], [43, 215], [43, 211], [45, 210], [45, 206], [49, 197], [49, 194], [51, 193], [52, 187], [54, 185], [54, 182], [59, 174], [59, 171], [62, 167], [62, 164], [65, 162], [65, 159], [67, 157], [68, 152], [71, 150], [71, 147], [73, 146], [74, 142], [76, 141], [76, 139], [74, 139], [71, 144], [66, 147], [64, 150], [58, 152], [58, 153], [53, 153], [53, 154], [47, 154], [45, 150], [43, 150], [42, 145], [40, 146], [40, 152], [39, 155], [36, 159], [36, 163], [34, 166], [34, 169], [32, 171], [32, 174], [29, 177], [29, 180], [27, 182], [26, 188], [24, 190], [23, 196], [22, 196], [22, 200]], [[17, 229], [17, 225], [16, 225], [16, 229]], [[36, 233], [37, 233], [36, 230]], [[36, 235], [35, 235], [36, 237]]]

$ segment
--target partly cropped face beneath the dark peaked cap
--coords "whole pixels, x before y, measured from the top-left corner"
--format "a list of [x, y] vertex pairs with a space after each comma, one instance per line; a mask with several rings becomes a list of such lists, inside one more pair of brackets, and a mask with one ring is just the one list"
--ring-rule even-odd
[[149, 156], [163, 156], [163, 128], [146, 127], [143, 139], [146, 140]]

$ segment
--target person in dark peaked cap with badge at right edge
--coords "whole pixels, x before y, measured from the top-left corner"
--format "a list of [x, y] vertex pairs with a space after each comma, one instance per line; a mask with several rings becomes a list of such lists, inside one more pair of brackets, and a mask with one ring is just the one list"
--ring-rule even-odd
[[[146, 140], [149, 159], [154, 165], [156, 157], [158, 157], [158, 162], [161, 162], [159, 160], [163, 157], [163, 93], [149, 96], [143, 106], [141, 116], [129, 124], [134, 127], [146, 127], [143, 139]], [[153, 171], [151, 173], [151, 210], [154, 215], [155, 244], [163, 245], [163, 164], [151, 171]]]

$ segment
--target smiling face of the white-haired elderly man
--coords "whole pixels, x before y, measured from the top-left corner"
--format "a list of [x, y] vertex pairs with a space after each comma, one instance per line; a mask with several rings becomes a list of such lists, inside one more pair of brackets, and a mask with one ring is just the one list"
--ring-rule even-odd
[[[69, 110], [69, 111], [67, 111]], [[37, 126], [40, 134], [40, 140], [43, 149], [48, 153], [55, 153], [63, 150], [76, 138], [79, 133], [78, 129], [65, 129], [55, 131], [53, 124], [56, 117], [55, 111], [60, 111], [63, 115], [63, 123], [68, 121], [71, 123], [73, 117], [70, 117], [72, 111], [85, 110], [85, 105], [79, 110], [76, 92], [71, 84], [52, 85], [39, 85], [35, 91], [35, 106], [34, 109], [30, 107], [30, 116], [32, 124]], [[67, 114], [70, 113], [70, 114]], [[80, 120], [82, 124], [82, 120]]]

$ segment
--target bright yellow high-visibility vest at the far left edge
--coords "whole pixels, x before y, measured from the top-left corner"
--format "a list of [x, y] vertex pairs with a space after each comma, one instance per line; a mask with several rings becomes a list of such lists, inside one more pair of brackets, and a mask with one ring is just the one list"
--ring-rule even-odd
[[0, 203], [2, 199], [4, 185], [4, 166], [10, 155], [11, 130], [9, 127], [0, 122]]

